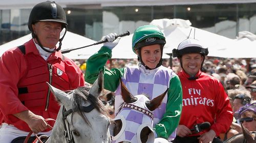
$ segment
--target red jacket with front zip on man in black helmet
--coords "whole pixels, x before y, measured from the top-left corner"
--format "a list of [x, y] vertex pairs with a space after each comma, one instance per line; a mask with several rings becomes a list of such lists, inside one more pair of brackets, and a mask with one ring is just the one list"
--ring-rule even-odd
[[45, 61], [32, 39], [24, 45], [25, 54], [19, 48], [12, 48], [0, 61], [0, 122], [30, 131], [28, 125], [13, 114], [30, 110], [45, 119], [56, 119], [59, 105], [46, 82], [67, 91], [84, 86], [84, 78], [72, 60], [62, 59], [60, 51], [53, 52]]

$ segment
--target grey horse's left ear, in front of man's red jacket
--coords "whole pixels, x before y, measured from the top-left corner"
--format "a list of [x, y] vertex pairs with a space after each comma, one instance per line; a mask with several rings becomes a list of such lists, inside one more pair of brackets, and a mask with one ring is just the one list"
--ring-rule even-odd
[[66, 102], [70, 101], [69, 97], [67, 96], [67, 94], [55, 87], [53, 87], [51, 84], [49, 84], [48, 82], [46, 82], [52, 92], [52, 94], [55, 96], [55, 99], [62, 104], [65, 104]]

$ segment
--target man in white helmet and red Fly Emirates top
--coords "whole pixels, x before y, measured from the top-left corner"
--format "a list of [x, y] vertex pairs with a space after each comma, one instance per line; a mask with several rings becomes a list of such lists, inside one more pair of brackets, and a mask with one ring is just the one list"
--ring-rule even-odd
[[231, 125], [233, 114], [221, 82], [203, 73], [208, 49], [200, 41], [188, 38], [173, 50], [182, 70], [178, 73], [182, 84], [182, 112], [176, 143], [217, 143], [217, 136]]

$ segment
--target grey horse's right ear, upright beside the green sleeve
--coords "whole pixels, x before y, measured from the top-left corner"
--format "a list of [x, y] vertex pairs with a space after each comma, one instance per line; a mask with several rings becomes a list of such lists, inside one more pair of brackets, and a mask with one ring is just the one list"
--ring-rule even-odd
[[98, 78], [94, 81], [89, 93], [94, 97], [98, 98], [102, 90], [103, 90], [103, 72], [100, 71]]

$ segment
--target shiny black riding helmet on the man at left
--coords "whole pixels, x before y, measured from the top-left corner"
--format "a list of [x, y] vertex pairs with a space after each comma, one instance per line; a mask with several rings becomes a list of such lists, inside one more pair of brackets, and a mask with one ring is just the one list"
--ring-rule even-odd
[[67, 26], [66, 13], [63, 8], [55, 2], [42, 2], [35, 5], [29, 16], [29, 30], [33, 33], [32, 24], [38, 21], [55, 21], [62, 23], [62, 28]]

